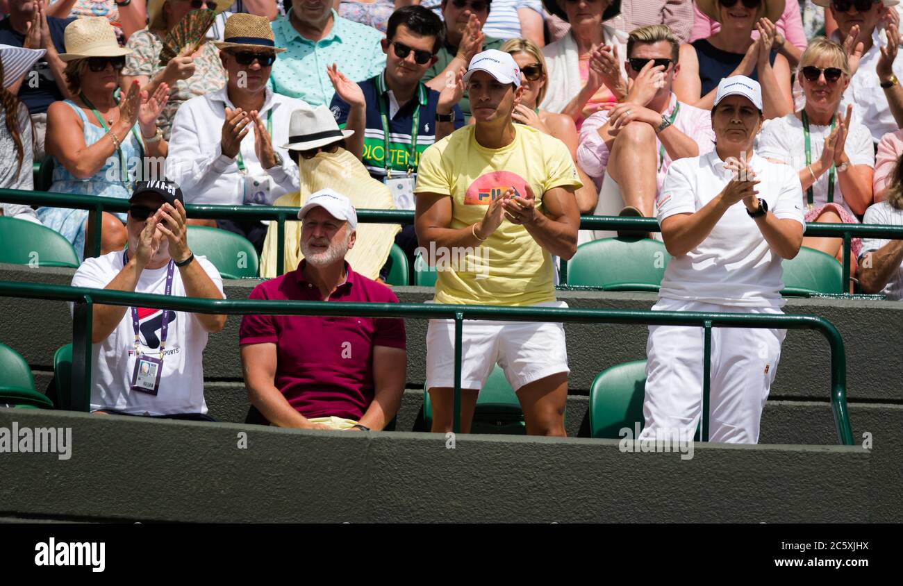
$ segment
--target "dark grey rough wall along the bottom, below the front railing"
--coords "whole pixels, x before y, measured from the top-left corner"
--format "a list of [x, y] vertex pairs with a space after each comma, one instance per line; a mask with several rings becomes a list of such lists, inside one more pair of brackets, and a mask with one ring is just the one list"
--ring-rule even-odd
[[[0, 518], [187, 522], [867, 522], [874, 454], [839, 446], [340, 433], [0, 409], [70, 460], [0, 453]], [[247, 449], [237, 447], [247, 433]], [[898, 507], [897, 507], [898, 508]], [[897, 517], [897, 520], [899, 517]]]

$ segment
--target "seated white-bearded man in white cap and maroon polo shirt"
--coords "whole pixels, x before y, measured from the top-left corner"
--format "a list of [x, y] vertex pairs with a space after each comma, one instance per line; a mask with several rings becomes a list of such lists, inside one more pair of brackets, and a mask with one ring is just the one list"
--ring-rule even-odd
[[[332, 190], [313, 193], [303, 220], [298, 268], [259, 284], [249, 299], [393, 302], [388, 287], [345, 262], [358, 215]], [[246, 315], [239, 341], [251, 404], [281, 427], [335, 429], [311, 419], [339, 417], [352, 430], [381, 430], [405, 388], [405, 321], [400, 318]]]

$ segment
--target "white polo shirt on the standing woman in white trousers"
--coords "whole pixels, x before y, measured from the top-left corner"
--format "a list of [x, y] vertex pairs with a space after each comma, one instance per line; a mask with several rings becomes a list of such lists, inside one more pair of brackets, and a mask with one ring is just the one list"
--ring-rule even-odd
[[[759, 198], [768, 202], [768, 212], [778, 219], [803, 219], [802, 189], [796, 172], [787, 165], [770, 163], [754, 154], [751, 167], [761, 181]], [[695, 213], [717, 196], [731, 181], [718, 153], [679, 159], [671, 163], [662, 191], [656, 198], [658, 223], [681, 213]], [[749, 218], [746, 206], [731, 206], [699, 246], [684, 256], [672, 258], [665, 269], [660, 297], [687, 301], [781, 307], [781, 258], [773, 255]]]

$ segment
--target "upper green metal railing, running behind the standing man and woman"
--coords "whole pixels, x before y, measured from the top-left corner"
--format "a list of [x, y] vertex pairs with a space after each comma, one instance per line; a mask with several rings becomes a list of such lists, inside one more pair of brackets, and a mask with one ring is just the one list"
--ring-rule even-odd
[[[96, 195], [76, 195], [71, 193], [53, 193], [49, 191], [0, 190], [0, 201], [21, 203], [33, 206], [49, 206], [53, 208], [88, 209], [96, 213], [102, 211], [126, 212], [128, 201], [118, 198], [107, 198]], [[277, 259], [276, 272], [284, 270], [285, 222], [297, 221], [300, 208], [284, 208], [281, 206], [214, 206], [206, 204], [189, 204], [185, 206], [192, 219], [242, 219], [242, 220], [274, 220], [277, 222]], [[402, 209], [358, 209], [358, 221], [379, 224], [413, 224], [414, 212]], [[641, 230], [659, 232], [658, 222], [654, 218], [619, 218], [618, 216], [582, 216], [582, 229], [600, 230]], [[94, 222], [94, 254], [100, 255], [100, 222]], [[878, 224], [823, 224], [812, 222], [805, 225], [806, 236], [843, 238], [843, 263], [841, 291], [849, 290], [850, 283], [850, 246], [853, 237], [873, 237], [903, 239], [903, 226], [881, 226]], [[561, 263], [562, 282], [566, 283], [567, 263]]]

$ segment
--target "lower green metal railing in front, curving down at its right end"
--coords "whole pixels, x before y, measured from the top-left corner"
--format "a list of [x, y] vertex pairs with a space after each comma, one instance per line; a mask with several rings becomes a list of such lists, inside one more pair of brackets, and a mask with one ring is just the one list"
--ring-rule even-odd
[[492, 307], [485, 305], [438, 305], [417, 303], [269, 302], [226, 301], [159, 294], [130, 293], [87, 287], [12, 283], [0, 281], [0, 296], [75, 302], [72, 348], [72, 405], [90, 405], [91, 324], [95, 303], [140, 305], [179, 312], [263, 315], [332, 315], [354, 317], [401, 317], [452, 319], [455, 325], [454, 422], [461, 429], [461, 336], [464, 320], [566, 321], [571, 323], [613, 323], [638, 325], [698, 326], [704, 330], [702, 438], [709, 437], [709, 385], [712, 328], [768, 328], [818, 330], [831, 349], [831, 406], [838, 442], [852, 445], [852, 427], [846, 402], [846, 353], [840, 332], [831, 321], [815, 315], [652, 312]]

